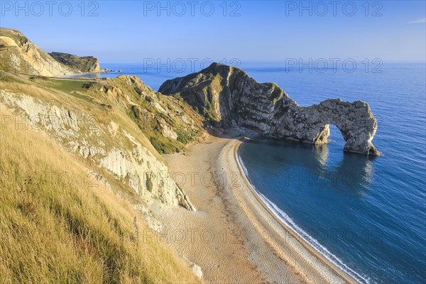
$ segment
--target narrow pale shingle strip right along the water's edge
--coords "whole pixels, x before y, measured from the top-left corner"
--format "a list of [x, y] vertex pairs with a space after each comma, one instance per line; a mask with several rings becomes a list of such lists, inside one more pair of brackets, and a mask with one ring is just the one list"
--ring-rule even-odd
[[312, 253], [313, 256], [315, 256], [317, 259], [322, 261], [322, 263], [324, 263], [326, 266], [328, 266], [329, 268], [332, 268], [334, 273], [336, 273], [341, 278], [343, 278], [347, 283], [354, 283], [354, 284], [359, 283], [351, 275], [349, 275], [348, 273], [343, 271], [341, 268], [336, 266], [334, 263], [332, 263], [332, 261], [329, 261], [329, 259], [327, 259], [325, 256], [323, 256], [320, 253], [320, 251], [317, 251], [317, 249], [315, 249], [311, 244], [307, 243], [307, 241], [305, 241], [305, 239], [303, 239], [295, 231], [293, 231], [293, 229], [291, 229], [290, 226], [288, 226], [287, 224], [282, 222], [281, 219], [276, 214], [274, 214], [274, 212], [271, 210], [271, 208], [268, 207], [268, 205], [265, 202], [263, 202], [261, 197], [258, 195], [258, 192], [253, 188], [253, 185], [251, 184], [248, 177], [246, 176], [246, 173], [244, 173], [243, 167], [241, 165], [241, 160], [239, 158], [239, 148], [243, 143], [243, 141], [242, 141], [243, 139], [245, 139], [245, 138], [239, 139], [238, 142], [234, 144], [235, 163], [238, 165], [239, 173], [244, 178], [244, 182], [246, 183], [246, 186], [249, 188], [249, 190], [251, 191], [251, 194], [256, 198], [256, 200], [259, 202], [259, 204], [261, 204], [263, 209], [265, 209], [269, 214], [271, 214], [273, 219], [275, 219], [275, 221], [278, 222], [278, 224], [280, 224], [280, 226], [282, 226], [283, 229], [285, 229], [285, 231], [287, 231], [291, 236], [293, 236], [295, 239], [297, 239], [297, 241], [299, 241], [300, 244], [302, 244], [302, 246], [304, 246], [305, 249], [307, 249], [307, 251]]

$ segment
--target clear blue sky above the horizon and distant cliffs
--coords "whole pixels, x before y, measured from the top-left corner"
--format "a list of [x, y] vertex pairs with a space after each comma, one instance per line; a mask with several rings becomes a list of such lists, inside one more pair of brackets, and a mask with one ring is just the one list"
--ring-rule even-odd
[[0, 26], [49, 52], [104, 61], [425, 60], [425, 3], [2, 0]]

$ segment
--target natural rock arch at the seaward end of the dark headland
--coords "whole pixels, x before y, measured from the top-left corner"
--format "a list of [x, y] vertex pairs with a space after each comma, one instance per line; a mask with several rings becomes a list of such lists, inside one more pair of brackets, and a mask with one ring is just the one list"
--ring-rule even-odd
[[[292, 120], [292, 123], [286, 123]], [[321, 144], [327, 143], [329, 124], [334, 124], [345, 141], [344, 151], [379, 155], [371, 140], [377, 130], [376, 118], [365, 102], [327, 99], [311, 107], [295, 107], [277, 124], [275, 136]]]

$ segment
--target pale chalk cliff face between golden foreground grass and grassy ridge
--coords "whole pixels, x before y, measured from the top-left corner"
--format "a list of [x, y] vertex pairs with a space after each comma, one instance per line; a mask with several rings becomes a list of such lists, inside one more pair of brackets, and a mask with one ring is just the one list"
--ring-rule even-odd
[[[106, 123], [106, 114], [97, 117], [56, 100], [46, 102], [6, 89], [0, 90], [0, 102], [26, 117], [28, 124], [24, 126], [48, 133], [68, 151], [88, 160], [94, 173], [104, 171], [105, 177], [119, 182], [148, 205], [159, 200], [169, 207], [181, 205], [195, 211], [143, 133], [133, 135], [126, 131], [126, 125], [112, 120]], [[125, 124], [131, 123], [125, 121]], [[131, 128], [138, 129], [137, 126]], [[96, 179], [104, 180], [104, 177], [96, 175]]]

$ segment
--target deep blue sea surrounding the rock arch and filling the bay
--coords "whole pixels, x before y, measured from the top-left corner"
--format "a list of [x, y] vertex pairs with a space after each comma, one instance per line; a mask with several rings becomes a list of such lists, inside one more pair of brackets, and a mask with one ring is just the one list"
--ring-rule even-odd
[[[137, 75], [158, 89], [207, 67], [151, 63], [101, 62], [116, 72], [87, 76]], [[425, 62], [234, 63], [258, 82], [275, 82], [301, 106], [368, 102], [381, 156], [344, 153], [342, 134], [331, 125], [328, 144], [259, 138], [242, 144], [239, 159], [276, 216], [360, 283], [426, 283]]]

